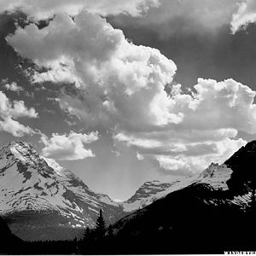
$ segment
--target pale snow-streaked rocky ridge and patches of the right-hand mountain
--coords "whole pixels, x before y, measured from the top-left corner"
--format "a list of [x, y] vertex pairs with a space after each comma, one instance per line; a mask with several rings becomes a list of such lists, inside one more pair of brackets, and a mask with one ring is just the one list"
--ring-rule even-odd
[[[125, 212], [134, 212], [143, 207], [147, 207], [154, 201], [164, 198], [166, 195], [184, 189], [190, 185], [202, 185], [212, 190], [229, 190], [228, 181], [233, 173], [226, 164], [218, 165], [212, 163], [205, 171], [198, 176], [184, 177], [171, 183], [161, 183], [160, 181], [152, 181], [143, 183], [136, 193], [127, 201], [120, 203]], [[230, 203], [238, 203], [241, 207], [245, 207], [251, 200], [251, 192], [243, 195], [234, 196], [229, 199]], [[212, 200], [212, 203], [214, 201]]]

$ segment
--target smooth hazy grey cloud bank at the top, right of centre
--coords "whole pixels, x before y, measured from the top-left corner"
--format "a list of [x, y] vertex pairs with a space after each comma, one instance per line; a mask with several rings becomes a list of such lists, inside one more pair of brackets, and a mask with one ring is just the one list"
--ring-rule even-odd
[[146, 15], [133, 18], [118, 15], [111, 21], [119, 27], [139, 27], [165, 41], [172, 36], [216, 35], [230, 26], [232, 15], [242, 0], [161, 0], [160, 6]]

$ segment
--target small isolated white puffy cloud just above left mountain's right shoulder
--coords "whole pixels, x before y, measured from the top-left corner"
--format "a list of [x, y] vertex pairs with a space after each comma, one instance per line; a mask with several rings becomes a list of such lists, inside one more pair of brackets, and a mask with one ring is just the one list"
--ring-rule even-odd
[[97, 132], [82, 134], [71, 131], [68, 135], [52, 134], [52, 137], [41, 137], [44, 148], [42, 154], [56, 160], [82, 160], [94, 157], [90, 149], [84, 148], [84, 144], [90, 144], [98, 139]]

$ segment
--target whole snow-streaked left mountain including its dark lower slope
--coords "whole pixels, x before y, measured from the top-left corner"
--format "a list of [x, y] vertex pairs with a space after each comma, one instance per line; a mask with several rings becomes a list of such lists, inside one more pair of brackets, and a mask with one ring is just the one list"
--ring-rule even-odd
[[20, 238], [71, 239], [95, 225], [100, 209], [107, 223], [123, 214], [108, 195], [91, 191], [28, 143], [12, 142], [0, 150], [0, 215]]

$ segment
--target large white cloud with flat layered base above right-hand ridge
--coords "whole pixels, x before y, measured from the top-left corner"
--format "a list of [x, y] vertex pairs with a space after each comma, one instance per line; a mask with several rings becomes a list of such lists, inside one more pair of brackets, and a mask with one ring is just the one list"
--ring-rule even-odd
[[237, 131], [256, 131], [255, 92], [232, 79], [198, 79], [194, 88], [191, 95], [172, 97], [170, 111], [183, 113], [182, 122], [154, 131], [123, 131], [113, 138], [172, 171], [199, 172], [212, 161], [222, 163], [246, 143], [236, 138]]

